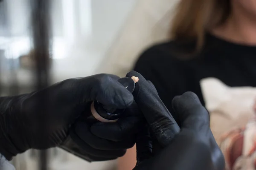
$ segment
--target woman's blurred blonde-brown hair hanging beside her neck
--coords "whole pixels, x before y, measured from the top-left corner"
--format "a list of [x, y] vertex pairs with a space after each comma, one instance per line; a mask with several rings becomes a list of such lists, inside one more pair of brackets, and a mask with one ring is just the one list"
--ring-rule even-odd
[[200, 51], [206, 31], [224, 23], [230, 13], [230, 0], [180, 0], [172, 20], [171, 38], [196, 40], [195, 50]]

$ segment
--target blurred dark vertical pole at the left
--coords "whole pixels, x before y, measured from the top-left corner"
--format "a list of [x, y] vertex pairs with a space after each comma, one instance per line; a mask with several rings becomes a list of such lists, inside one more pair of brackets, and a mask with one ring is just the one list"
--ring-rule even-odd
[[[36, 88], [41, 90], [46, 88], [49, 83], [49, 9], [50, 0], [31, 0], [32, 4], [32, 37], [34, 44], [34, 56], [35, 57], [35, 76], [36, 76]], [[47, 94], [44, 94], [38, 101], [38, 105], [44, 105], [41, 108], [47, 108], [46, 101]], [[42, 136], [47, 136], [47, 122], [44, 116], [38, 117], [44, 129], [41, 133]], [[40, 151], [39, 157], [39, 169], [47, 170], [47, 150]]]

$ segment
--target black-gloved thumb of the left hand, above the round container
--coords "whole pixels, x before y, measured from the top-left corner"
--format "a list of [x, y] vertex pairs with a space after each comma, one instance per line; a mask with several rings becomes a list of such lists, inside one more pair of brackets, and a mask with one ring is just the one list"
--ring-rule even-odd
[[81, 87], [77, 88], [81, 89], [81, 94], [86, 94], [84, 102], [97, 100], [105, 106], [122, 109], [131, 105], [133, 95], [117, 81], [118, 79], [119, 77], [112, 74], [97, 74], [79, 79]]

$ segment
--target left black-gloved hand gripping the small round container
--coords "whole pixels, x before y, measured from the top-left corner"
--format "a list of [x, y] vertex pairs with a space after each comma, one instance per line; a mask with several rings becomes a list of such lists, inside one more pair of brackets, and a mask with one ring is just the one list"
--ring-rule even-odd
[[[120, 118], [109, 128], [100, 126], [101, 123], [89, 127], [85, 122], [77, 122], [81, 116], [90, 114], [94, 100], [111, 108], [131, 106], [133, 95], [117, 79], [114, 75], [98, 74], [67, 79], [31, 94], [1, 97], [0, 153], [10, 160], [30, 148], [47, 149], [65, 144], [70, 127], [76, 122], [74, 126], [78, 133], [83, 133], [83, 142], [87, 144], [79, 150], [83, 156], [90, 161], [123, 156], [125, 149], [135, 143], [134, 128], [139, 124], [136, 116], [126, 115], [126, 121]], [[91, 128], [105, 139], [93, 135]], [[126, 140], [129, 137], [131, 140]]]

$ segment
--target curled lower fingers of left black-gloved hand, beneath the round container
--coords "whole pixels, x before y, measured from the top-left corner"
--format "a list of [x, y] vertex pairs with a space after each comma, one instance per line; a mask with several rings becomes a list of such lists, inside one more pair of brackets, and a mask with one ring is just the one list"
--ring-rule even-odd
[[[86, 123], [80, 116], [70, 129], [70, 136], [64, 146], [71, 146], [74, 153], [87, 161], [105, 161], [123, 156], [126, 149], [134, 146], [139, 127], [143, 121], [142, 113], [133, 102], [115, 123], [95, 122]], [[66, 147], [62, 147], [73, 153]], [[84, 157], [90, 153], [90, 157]]]

